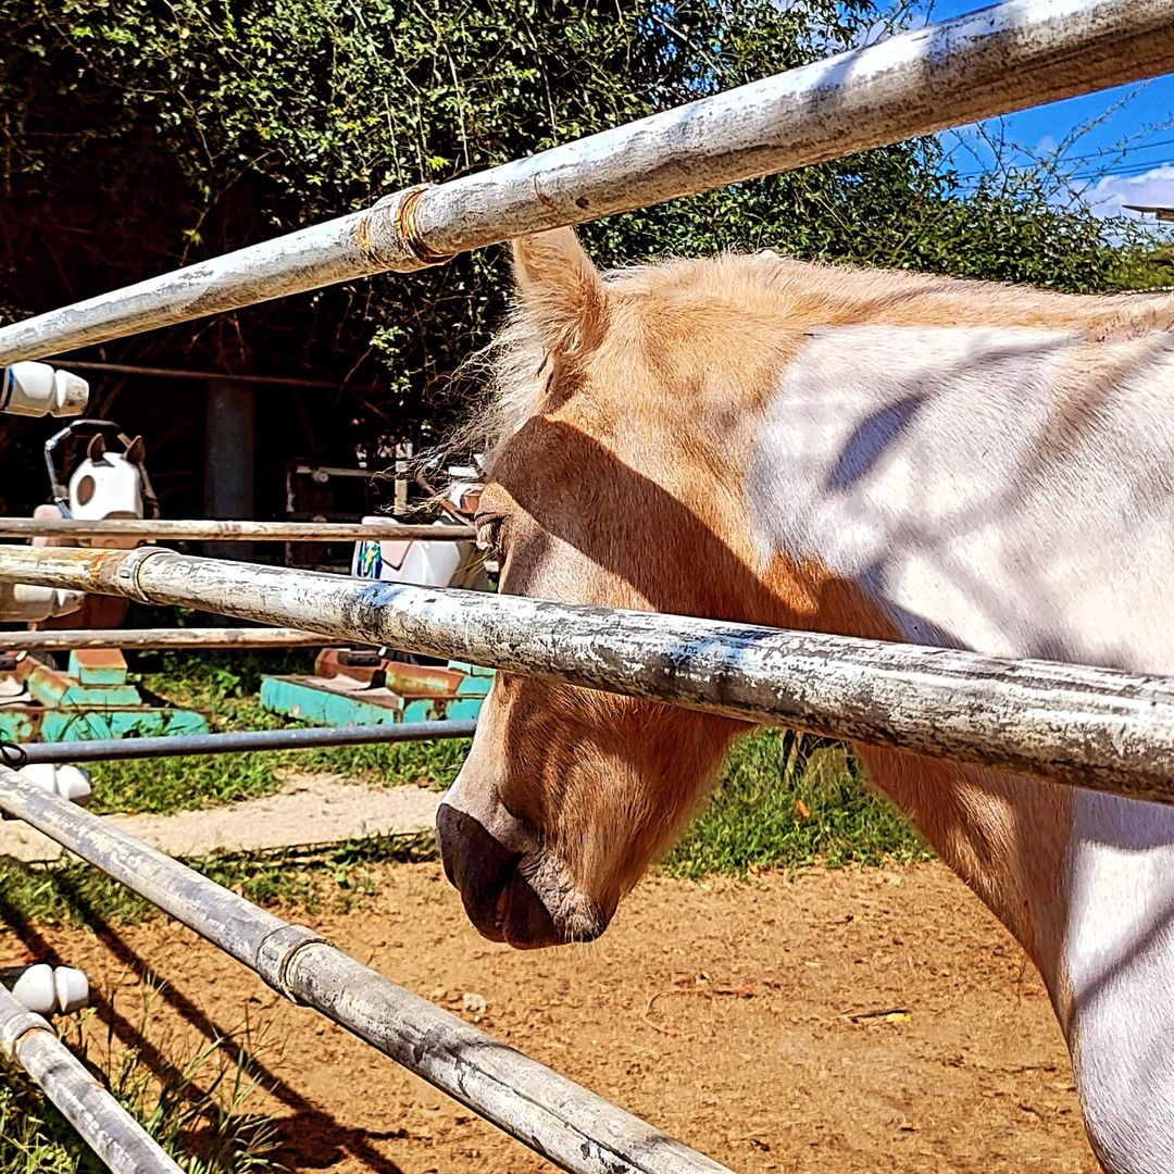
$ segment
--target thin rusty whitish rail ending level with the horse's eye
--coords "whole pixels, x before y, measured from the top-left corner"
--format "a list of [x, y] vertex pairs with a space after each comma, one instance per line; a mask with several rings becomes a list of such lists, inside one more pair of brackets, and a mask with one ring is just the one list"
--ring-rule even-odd
[[[375, 474], [372, 474], [375, 475]], [[231, 521], [220, 518], [0, 518], [0, 538], [137, 538], [158, 542], [471, 542], [472, 526], [404, 526], [393, 521]]]

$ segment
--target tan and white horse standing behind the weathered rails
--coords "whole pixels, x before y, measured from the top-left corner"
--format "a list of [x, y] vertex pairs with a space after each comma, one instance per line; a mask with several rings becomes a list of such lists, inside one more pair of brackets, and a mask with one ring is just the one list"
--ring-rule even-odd
[[[1174, 299], [514, 259], [504, 591], [1174, 674]], [[438, 817], [478, 929], [600, 935], [744, 728], [499, 675]], [[1174, 810], [859, 754], [1039, 967], [1104, 1166], [1174, 1172]]]

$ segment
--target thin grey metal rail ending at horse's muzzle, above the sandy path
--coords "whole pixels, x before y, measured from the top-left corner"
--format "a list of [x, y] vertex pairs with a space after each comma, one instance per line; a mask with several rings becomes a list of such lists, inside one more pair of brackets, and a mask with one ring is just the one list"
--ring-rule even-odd
[[112, 737], [93, 742], [26, 742], [27, 763], [116, 762], [127, 758], [176, 758], [185, 754], [242, 754], [250, 750], [310, 750], [324, 745], [376, 745], [384, 742], [431, 742], [472, 737], [477, 722], [402, 722], [389, 726], [342, 726], [338, 729], [231, 730], [225, 734], [175, 734], [163, 737]]

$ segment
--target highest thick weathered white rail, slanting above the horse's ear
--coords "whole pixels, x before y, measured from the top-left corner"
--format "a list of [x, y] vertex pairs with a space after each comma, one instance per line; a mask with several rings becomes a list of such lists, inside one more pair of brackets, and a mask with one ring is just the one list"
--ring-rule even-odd
[[1169, 0], [1011, 0], [15, 323], [58, 355], [1174, 69]]

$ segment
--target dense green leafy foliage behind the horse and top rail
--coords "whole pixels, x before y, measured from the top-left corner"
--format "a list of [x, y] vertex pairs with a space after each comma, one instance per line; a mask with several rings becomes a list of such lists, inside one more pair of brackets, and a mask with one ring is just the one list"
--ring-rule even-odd
[[[0, 306], [47, 309], [787, 69], [857, 43], [879, 14], [873, 0], [0, 0]], [[962, 198], [935, 140], [587, 237], [605, 263], [774, 248], [1068, 290], [1140, 274], [1136, 249], [1030, 181]], [[440, 392], [498, 321], [504, 270], [495, 251], [461, 256], [106, 357], [375, 382], [263, 421], [275, 451], [282, 438], [350, 464], [454, 410]], [[163, 491], [167, 506], [177, 490]]]

